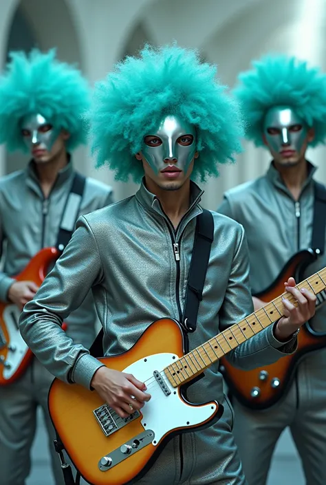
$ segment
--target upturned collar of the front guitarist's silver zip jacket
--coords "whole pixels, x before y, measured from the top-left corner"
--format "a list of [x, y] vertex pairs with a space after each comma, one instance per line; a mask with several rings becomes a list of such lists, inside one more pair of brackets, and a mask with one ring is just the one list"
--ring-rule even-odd
[[[182, 221], [179, 224], [177, 232], [183, 230], [184, 226], [190, 222], [193, 217], [196, 217], [200, 213], [202, 213], [202, 208], [199, 206], [199, 202], [202, 199], [204, 191], [202, 191], [195, 182], [191, 181], [191, 204], [186, 211], [184, 217], [182, 217]], [[138, 202], [148, 211], [152, 213], [157, 213], [163, 216], [171, 225], [171, 221], [169, 217], [166, 216], [162, 209], [162, 205], [160, 204], [160, 200], [157, 199], [156, 195], [149, 192], [144, 183], [144, 177], [142, 179], [142, 183], [140, 185], [139, 190], [135, 194], [136, 199]]]

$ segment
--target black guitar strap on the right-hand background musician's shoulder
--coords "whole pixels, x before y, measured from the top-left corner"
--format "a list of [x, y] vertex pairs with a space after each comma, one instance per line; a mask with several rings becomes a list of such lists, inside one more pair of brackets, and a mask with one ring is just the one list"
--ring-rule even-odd
[[326, 230], [326, 187], [315, 182], [314, 188], [314, 219], [312, 222], [312, 249], [318, 255], [325, 251]]

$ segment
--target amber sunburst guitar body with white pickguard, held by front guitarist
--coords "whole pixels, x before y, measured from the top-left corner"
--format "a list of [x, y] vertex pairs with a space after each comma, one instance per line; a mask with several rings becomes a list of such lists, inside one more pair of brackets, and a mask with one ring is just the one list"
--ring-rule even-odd
[[[100, 358], [107, 367], [126, 371], [145, 382], [151, 394], [141, 413], [126, 420], [107, 407], [96, 392], [54, 380], [49, 394], [52, 422], [70, 459], [87, 482], [128, 484], [148, 471], [173, 435], [208, 426], [221, 416], [223, 407], [215, 401], [204, 405], [187, 402], [182, 388], [173, 387], [162, 372], [183, 355], [180, 326], [171, 319], [160, 319], [128, 352]], [[154, 371], [159, 371], [169, 395], [153, 377]]]

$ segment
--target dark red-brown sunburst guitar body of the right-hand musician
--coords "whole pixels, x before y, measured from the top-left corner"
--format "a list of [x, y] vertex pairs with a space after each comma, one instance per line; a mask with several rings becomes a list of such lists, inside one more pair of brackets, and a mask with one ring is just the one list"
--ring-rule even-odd
[[[263, 301], [272, 301], [284, 292], [284, 282], [289, 277], [301, 281], [301, 273], [316, 256], [311, 250], [298, 252], [285, 265], [276, 281], [264, 292], [255, 296]], [[221, 371], [230, 392], [243, 406], [250, 409], [267, 409], [278, 402], [287, 392], [294, 378], [299, 360], [316, 349], [325, 347], [326, 334], [316, 334], [309, 324], [298, 333], [298, 349], [292, 355], [281, 357], [276, 363], [257, 367], [250, 371], [236, 369], [226, 358], [221, 359]]]

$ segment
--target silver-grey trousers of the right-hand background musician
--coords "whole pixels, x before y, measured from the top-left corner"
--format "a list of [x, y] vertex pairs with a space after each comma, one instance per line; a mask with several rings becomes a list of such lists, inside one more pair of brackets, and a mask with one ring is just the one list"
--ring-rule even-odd
[[301, 457], [306, 485], [326, 484], [325, 382], [325, 369], [312, 369], [303, 360], [286, 398], [272, 408], [251, 411], [234, 400], [233, 433], [249, 485], [266, 484], [276, 442], [286, 427]]

